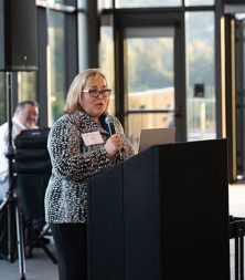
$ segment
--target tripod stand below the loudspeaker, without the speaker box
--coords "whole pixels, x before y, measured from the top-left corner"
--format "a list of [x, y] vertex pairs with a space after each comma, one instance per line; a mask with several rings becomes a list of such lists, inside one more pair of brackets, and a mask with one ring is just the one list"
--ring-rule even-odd
[[[14, 175], [13, 175], [13, 158], [14, 158], [14, 147], [12, 143], [12, 72], [7, 72], [7, 110], [8, 110], [8, 148], [6, 156], [9, 162], [9, 177], [8, 177], [8, 191], [3, 203], [0, 205], [0, 211], [8, 209], [8, 260], [14, 262], [15, 260], [15, 248], [14, 248], [14, 237], [17, 234], [17, 246], [18, 246], [18, 257], [19, 257], [19, 270], [20, 279], [25, 280], [25, 258], [24, 258], [24, 242], [23, 242], [23, 228], [20, 216], [20, 207], [17, 195], [14, 194]], [[14, 214], [17, 232], [14, 232]]]

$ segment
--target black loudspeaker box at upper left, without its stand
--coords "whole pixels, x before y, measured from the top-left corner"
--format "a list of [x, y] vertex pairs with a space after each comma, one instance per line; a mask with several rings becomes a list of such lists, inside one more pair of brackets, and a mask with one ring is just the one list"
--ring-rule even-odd
[[0, 0], [0, 71], [38, 70], [34, 0]]

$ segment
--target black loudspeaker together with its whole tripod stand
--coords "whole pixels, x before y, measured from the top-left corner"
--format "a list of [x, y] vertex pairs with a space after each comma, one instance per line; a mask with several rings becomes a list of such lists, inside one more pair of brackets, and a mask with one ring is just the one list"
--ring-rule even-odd
[[17, 222], [20, 279], [25, 279], [25, 260], [19, 200], [14, 194], [12, 139], [12, 72], [38, 70], [35, 0], [0, 0], [0, 71], [7, 72], [9, 188], [0, 211], [8, 209], [8, 260], [14, 261], [14, 215]]

